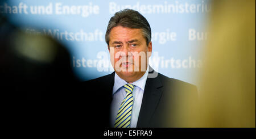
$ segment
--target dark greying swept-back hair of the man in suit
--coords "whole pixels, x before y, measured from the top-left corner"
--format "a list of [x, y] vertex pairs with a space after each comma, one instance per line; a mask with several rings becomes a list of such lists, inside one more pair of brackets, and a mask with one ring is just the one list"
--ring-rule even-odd
[[131, 9], [124, 9], [115, 12], [114, 16], [110, 18], [108, 28], [106, 30], [105, 40], [109, 46], [109, 34], [112, 28], [122, 26], [127, 28], [139, 28], [142, 31], [142, 35], [146, 39], [146, 43], [151, 41], [151, 28], [147, 19], [144, 18], [138, 11]]

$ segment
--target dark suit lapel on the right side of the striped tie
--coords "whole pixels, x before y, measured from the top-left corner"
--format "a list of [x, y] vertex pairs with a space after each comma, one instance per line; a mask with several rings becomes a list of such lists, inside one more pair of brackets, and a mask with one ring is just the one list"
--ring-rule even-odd
[[151, 117], [162, 96], [162, 86], [158, 76], [155, 78], [147, 78], [137, 127], [150, 127]]

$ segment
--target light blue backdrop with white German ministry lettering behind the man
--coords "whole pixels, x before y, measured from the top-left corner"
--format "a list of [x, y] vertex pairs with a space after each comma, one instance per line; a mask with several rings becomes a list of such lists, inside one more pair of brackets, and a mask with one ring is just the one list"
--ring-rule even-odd
[[134, 9], [152, 30], [150, 65], [171, 78], [197, 84], [207, 40], [209, 1], [85, 1], [20, 0], [2, 3], [0, 12], [27, 33], [47, 34], [71, 51], [72, 67], [82, 81], [112, 73], [105, 31], [122, 9]]

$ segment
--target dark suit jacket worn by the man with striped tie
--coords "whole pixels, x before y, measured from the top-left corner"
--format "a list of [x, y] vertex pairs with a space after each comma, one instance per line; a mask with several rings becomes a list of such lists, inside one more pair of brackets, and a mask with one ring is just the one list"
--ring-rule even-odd
[[[152, 72], [156, 73], [154, 70], [150, 71], [149, 75]], [[85, 87], [84, 89], [94, 89], [93, 93], [90, 92], [89, 94], [92, 95], [90, 98], [93, 99], [95, 107], [88, 107], [87, 109], [89, 113], [94, 113], [95, 120], [90, 121], [92, 127], [94, 125], [96, 127], [98, 125], [110, 127], [109, 115], [114, 74], [113, 72], [92, 79], [82, 85]], [[137, 127], [186, 127], [177, 121], [181, 118], [186, 119], [186, 116], [191, 114], [189, 107], [196, 102], [196, 86], [158, 73], [155, 78], [147, 78]], [[182, 108], [182, 112], [180, 108]]]

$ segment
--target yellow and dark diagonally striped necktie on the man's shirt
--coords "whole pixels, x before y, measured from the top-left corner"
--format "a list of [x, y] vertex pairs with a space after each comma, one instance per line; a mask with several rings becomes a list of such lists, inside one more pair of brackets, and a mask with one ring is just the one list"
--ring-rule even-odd
[[130, 128], [131, 123], [131, 109], [133, 108], [133, 89], [134, 85], [124, 85], [126, 91], [126, 97], [123, 99], [121, 106], [117, 113], [117, 119], [115, 119], [115, 128]]

